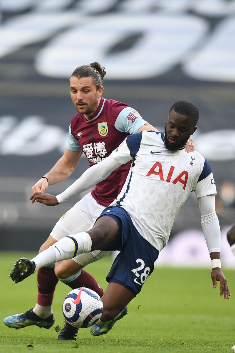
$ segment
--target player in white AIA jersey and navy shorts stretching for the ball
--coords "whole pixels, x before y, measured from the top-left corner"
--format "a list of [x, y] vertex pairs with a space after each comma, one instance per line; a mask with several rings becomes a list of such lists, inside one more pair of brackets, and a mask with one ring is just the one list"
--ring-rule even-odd
[[[220, 281], [220, 295], [230, 296], [220, 263], [220, 228], [215, 212], [216, 187], [209, 163], [198, 152], [184, 150], [194, 133], [199, 112], [194, 104], [173, 104], [165, 133], [142, 131], [128, 136], [102, 163], [96, 164], [58, 196], [34, 193], [32, 202], [56, 205], [94, 183], [107, 178], [131, 161], [131, 170], [117, 199], [107, 207], [87, 232], [64, 237], [32, 260], [19, 259], [11, 274], [14, 282], [47, 265], [81, 253], [120, 250], [106, 279], [101, 319], [92, 335], [110, 330], [126, 305], [142, 289], [154, 269], [159, 252], [167, 244], [174, 220], [191, 191], [201, 211], [201, 224], [212, 264], [212, 286]], [[74, 249], [76, 249], [74, 251]], [[22, 271], [25, 269], [26, 272]]]

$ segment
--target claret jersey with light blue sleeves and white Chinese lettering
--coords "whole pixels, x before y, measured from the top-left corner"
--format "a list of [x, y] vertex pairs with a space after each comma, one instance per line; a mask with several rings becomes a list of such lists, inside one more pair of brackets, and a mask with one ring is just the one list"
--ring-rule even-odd
[[[89, 117], [77, 113], [69, 127], [67, 149], [82, 150], [89, 166], [103, 161], [130, 134], [146, 124], [140, 114], [125, 103], [101, 97], [97, 110]], [[108, 206], [118, 195], [130, 170], [130, 162], [113, 171], [98, 183], [92, 196], [103, 206]]]

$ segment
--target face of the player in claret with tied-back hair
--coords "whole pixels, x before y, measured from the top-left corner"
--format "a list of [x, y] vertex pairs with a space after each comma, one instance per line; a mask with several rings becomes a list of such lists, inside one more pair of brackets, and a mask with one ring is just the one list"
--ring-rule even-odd
[[92, 77], [76, 78], [74, 76], [70, 77], [69, 86], [75, 108], [88, 118], [99, 105], [103, 86], [97, 89]]

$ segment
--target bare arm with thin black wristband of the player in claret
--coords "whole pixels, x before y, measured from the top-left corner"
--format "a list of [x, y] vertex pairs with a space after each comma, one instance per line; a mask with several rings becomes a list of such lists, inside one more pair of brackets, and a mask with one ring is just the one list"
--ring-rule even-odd
[[45, 178], [39, 179], [32, 187], [32, 192], [45, 192], [48, 185], [57, 184], [67, 179], [76, 168], [81, 155], [82, 151], [70, 151], [66, 148], [63, 156], [56, 162], [54, 167], [44, 175]]

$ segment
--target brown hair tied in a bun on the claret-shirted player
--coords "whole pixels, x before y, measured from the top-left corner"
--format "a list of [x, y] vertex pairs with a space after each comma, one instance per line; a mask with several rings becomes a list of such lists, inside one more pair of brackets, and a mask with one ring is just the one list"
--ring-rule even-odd
[[102, 86], [102, 80], [105, 74], [105, 68], [102, 67], [97, 61], [94, 61], [89, 65], [82, 65], [75, 68], [70, 77], [92, 77], [93, 83], [97, 86], [97, 89], [99, 89]]

